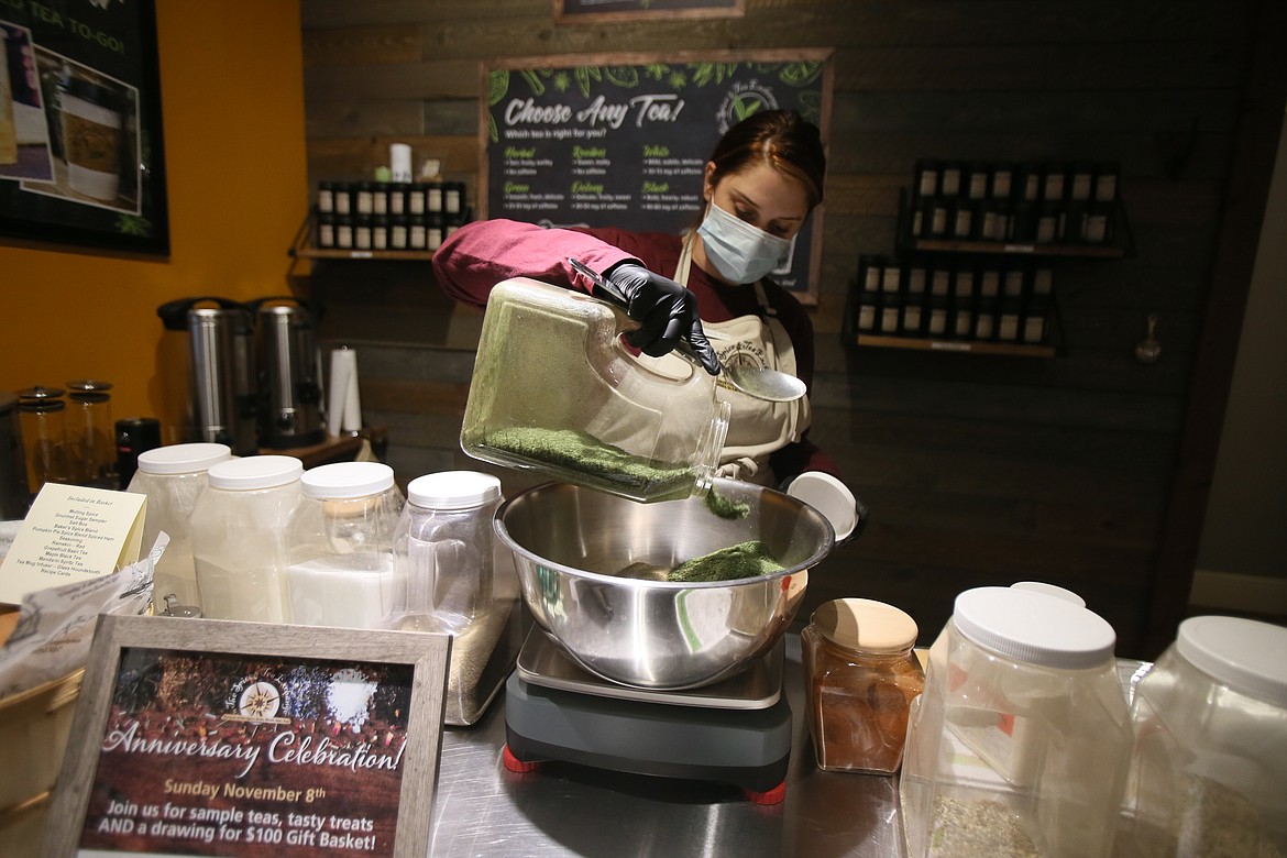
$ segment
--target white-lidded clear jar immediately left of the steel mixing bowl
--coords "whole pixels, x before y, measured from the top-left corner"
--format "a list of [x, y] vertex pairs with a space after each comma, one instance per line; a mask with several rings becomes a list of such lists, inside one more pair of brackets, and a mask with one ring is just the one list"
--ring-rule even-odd
[[501, 481], [475, 471], [416, 477], [394, 533], [399, 593], [387, 625], [413, 632], [465, 630], [492, 602], [492, 518]]

